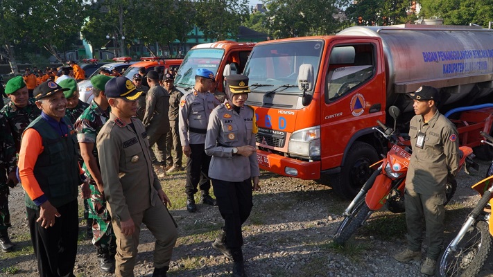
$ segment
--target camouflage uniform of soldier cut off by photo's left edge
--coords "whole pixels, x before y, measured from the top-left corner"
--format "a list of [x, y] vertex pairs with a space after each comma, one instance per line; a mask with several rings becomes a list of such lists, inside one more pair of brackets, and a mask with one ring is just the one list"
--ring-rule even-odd
[[0, 114], [0, 230], [10, 227], [7, 175], [16, 167], [15, 146], [6, 117]]

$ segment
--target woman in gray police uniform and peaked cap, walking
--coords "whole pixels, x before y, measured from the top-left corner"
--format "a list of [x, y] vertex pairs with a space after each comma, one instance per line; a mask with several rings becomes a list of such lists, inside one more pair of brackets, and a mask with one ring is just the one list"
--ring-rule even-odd
[[254, 111], [244, 107], [250, 88], [245, 75], [227, 77], [228, 101], [212, 111], [205, 152], [212, 156], [212, 180], [225, 226], [212, 247], [234, 261], [233, 276], [245, 276], [241, 225], [252, 211], [252, 190], [259, 190], [259, 163], [255, 148]]

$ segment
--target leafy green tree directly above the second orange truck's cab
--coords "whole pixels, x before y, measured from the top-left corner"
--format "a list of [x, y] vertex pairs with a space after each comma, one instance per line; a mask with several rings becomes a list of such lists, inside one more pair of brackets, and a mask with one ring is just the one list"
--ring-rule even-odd
[[236, 37], [249, 15], [248, 0], [198, 0], [196, 25], [206, 38]]

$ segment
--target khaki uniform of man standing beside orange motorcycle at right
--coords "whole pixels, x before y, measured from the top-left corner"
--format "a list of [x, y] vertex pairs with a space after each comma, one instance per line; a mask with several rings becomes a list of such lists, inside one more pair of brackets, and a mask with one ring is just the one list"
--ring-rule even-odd
[[[417, 146], [424, 133], [423, 148]], [[440, 112], [424, 123], [422, 116], [410, 121], [409, 136], [413, 154], [406, 177], [406, 222], [408, 248], [421, 251], [422, 220], [429, 240], [428, 257], [437, 260], [444, 239], [444, 201], [447, 176], [455, 176], [459, 166], [459, 141], [455, 125]]]

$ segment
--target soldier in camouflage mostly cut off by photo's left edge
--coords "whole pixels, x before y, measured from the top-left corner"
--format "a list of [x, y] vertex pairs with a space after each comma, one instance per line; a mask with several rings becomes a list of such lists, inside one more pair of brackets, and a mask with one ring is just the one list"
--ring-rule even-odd
[[15, 146], [10, 126], [3, 114], [0, 114], [0, 249], [10, 252], [14, 244], [8, 238], [10, 227], [10, 213], [8, 211], [8, 187], [17, 184], [15, 177]]

